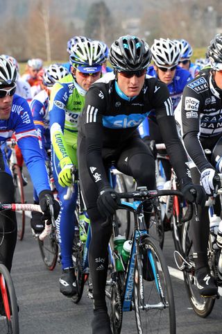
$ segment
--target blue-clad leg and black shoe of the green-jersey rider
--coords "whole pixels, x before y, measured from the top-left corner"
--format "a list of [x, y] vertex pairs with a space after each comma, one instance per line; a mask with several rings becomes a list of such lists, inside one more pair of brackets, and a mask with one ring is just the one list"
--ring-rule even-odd
[[74, 265], [71, 258], [72, 246], [75, 231], [75, 208], [77, 199], [76, 191], [71, 195], [70, 199], [65, 200], [64, 195], [67, 193], [67, 187], [61, 187], [58, 183], [58, 174], [60, 173], [59, 160], [54, 151], [52, 151], [53, 178], [58, 190], [60, 201], [60, 213], [56, 219], [56, 228], [58, 231], [58, 240], [61, 249], [62, 258], [62, 276], [60, 278], [60, 292], [67, 297], [71, 297], [76, 293], [76, 278], [74, 275]]

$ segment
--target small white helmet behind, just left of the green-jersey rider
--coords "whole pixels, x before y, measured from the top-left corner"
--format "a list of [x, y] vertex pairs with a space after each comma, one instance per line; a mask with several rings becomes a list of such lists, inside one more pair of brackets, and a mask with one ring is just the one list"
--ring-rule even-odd
[[42, 83], [46, 87], [52, 87], [56, 81], [69, 74], [68, 70], [59, 64], [52, 64], [44, 69]]

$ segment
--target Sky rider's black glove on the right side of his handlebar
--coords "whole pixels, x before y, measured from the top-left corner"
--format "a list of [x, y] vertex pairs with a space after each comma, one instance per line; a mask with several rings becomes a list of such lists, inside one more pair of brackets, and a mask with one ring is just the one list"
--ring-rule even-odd
[[193, 183], [187, 183], [182, 187], [181, 191], [186, 201], [190, 203], [196, 202], [202, 208], [205, 206], [206, 193], [202, 185], [194, 185]]

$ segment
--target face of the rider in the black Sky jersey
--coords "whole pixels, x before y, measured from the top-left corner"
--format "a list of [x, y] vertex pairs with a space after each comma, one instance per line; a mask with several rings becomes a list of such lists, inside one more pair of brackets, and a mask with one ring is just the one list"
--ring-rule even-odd
[[142, 90], [144, 86], [146, 71], [142, 76], [131, 76], [130, 78], [124, 76], [119, 72], [117, 74], [118, 78], [118, 85], [120, 90], [127, 96], [127, 97], [136, 97]]

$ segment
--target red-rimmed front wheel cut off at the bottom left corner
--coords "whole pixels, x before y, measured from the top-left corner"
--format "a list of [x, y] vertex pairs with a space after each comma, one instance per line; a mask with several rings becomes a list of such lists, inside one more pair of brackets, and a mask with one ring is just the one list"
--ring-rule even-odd
[[[3, 305], [3, 291], [8, 296], [9, 312]], [[0, 264], [0, 333], [1, 334], [19, 334], [19, 315], [15, 287], [10, 276], [10, 272], [5, 265]]]

